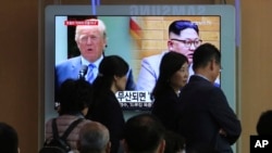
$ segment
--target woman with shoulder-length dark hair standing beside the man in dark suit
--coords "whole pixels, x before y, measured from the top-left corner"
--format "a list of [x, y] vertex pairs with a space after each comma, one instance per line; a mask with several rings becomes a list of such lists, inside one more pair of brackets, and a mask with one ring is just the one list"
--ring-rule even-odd
[[177, 130], [180, 93], [182, 87], [187, 84], [187, 58], [173, 51], [165, 53], [161, 60], [159, 79], [152, 91], [154, 102], [151, 113], [169, 130]]

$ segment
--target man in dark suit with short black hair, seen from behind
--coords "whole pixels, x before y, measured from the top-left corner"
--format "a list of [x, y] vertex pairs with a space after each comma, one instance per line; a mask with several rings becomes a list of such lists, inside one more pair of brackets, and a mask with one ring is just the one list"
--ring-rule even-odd
[[193, 63], [195, 75], [181, 92], [178, 122], [187, 152], [211, 149], [232, 153], [231, 145], [239, 138], [242, 127], [223, 91], [213, 86], [221, 69], [220, 51], [213, 44], [201, 44]]

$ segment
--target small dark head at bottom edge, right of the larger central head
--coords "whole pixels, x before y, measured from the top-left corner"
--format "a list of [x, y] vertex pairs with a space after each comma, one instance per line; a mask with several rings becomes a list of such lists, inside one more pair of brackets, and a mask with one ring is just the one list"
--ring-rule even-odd
[[164, 138], [166, 142], [164, 153], [182, 153], [185, 150], [185, 138], [181, 135], [168, 130]]

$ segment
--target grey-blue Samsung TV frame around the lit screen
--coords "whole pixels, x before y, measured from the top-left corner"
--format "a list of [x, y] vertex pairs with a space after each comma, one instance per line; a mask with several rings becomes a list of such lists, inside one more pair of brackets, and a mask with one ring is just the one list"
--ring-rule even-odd
[[219, 15], [222, 53], [221, 88], [230, 105], [236, 109], [235, 10], [232, 5], [100, 5], [92, 14], [90, 5], [48, 5], [45, 12], [45, 119], [54, 117], [55, 15]]

